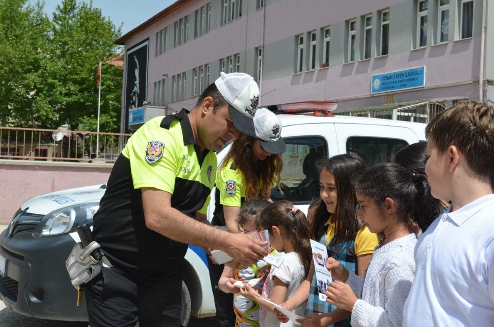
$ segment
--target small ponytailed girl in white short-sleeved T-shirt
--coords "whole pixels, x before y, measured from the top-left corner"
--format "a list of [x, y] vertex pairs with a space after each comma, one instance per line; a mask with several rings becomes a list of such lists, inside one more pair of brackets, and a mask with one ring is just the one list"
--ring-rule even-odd
[[[277, 201], [269, 204], [259, 216], [259, 228], [269, 232], [269, 241], [278, 252], [285, 252], [279, 267], [271, 267], [268, 278], [262, 288], [262, 296], [247, 286], [242, 289], [244, 296], [256, 300], [261, 306], [259, 322], [261, 326], [276, 327], [280, 322], [274, 313], [274, 306], [263, 301], [263, 298], [274, 303], [286, 301], [300, 286], [309, 273], [312, 251], [309, 241], [309, 222], [302, 210], [288, 201]], [[295, 314], [303, 314], [304, 308], [295, 309]], [[293, 322], [284, 327], [294, 326]]]

